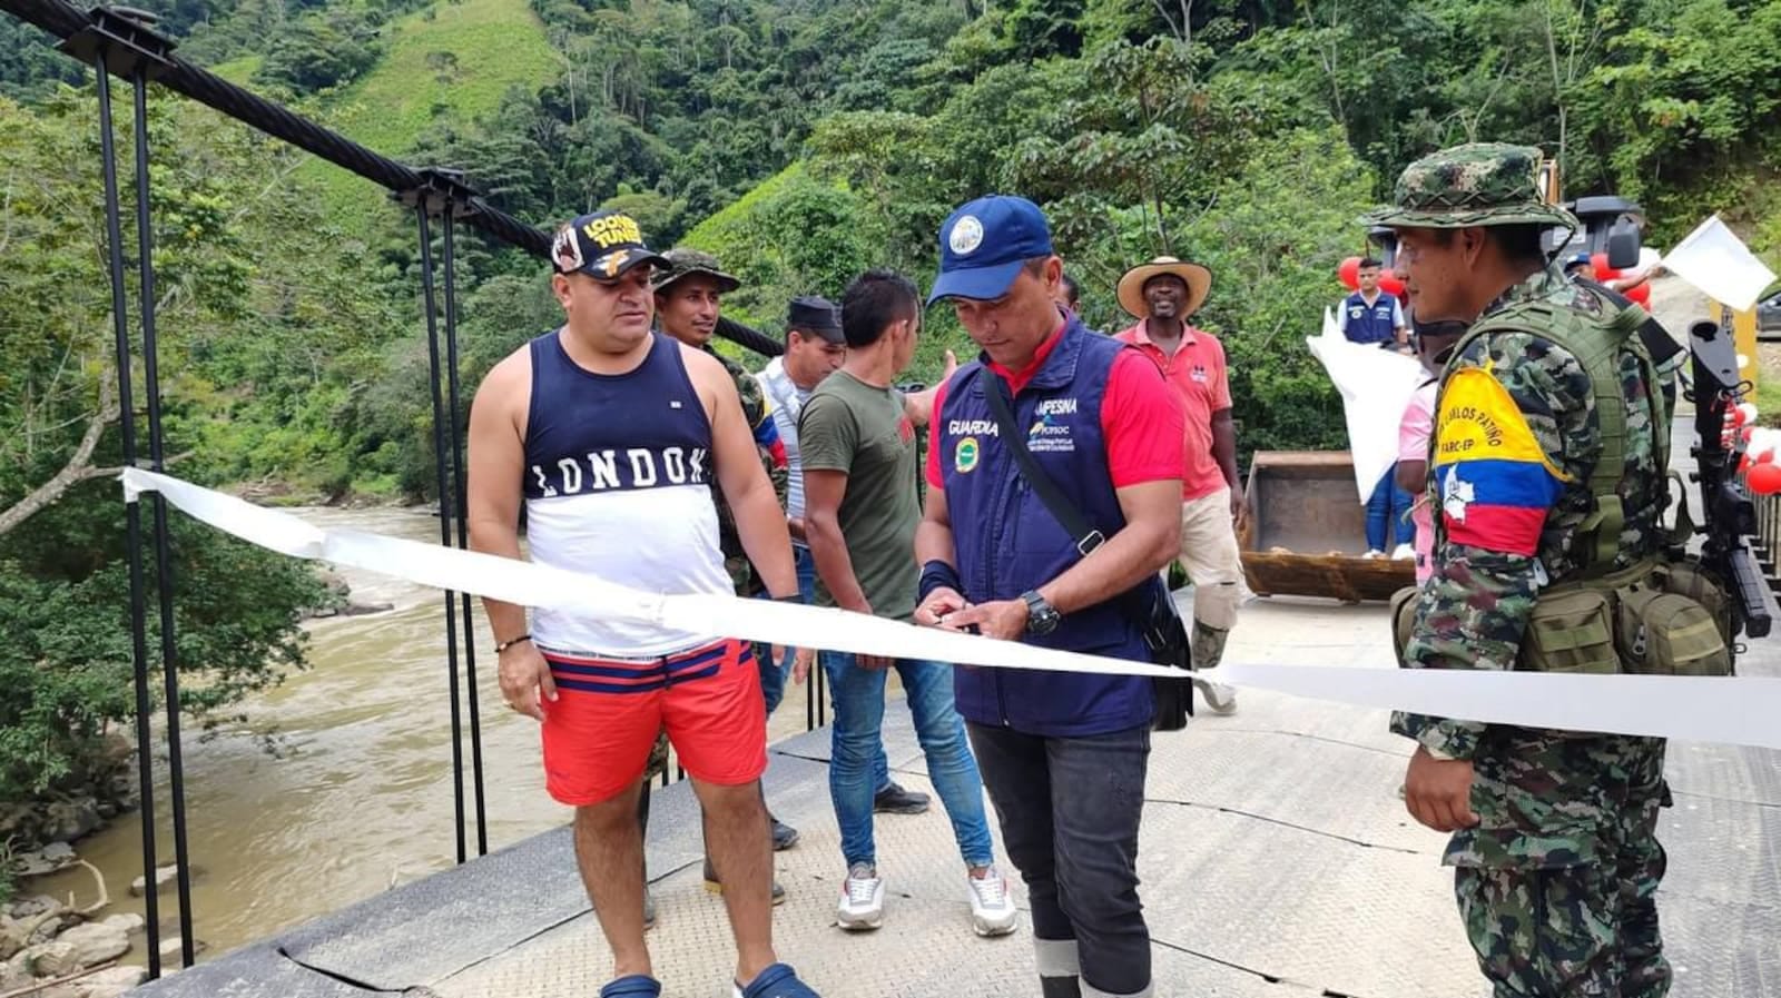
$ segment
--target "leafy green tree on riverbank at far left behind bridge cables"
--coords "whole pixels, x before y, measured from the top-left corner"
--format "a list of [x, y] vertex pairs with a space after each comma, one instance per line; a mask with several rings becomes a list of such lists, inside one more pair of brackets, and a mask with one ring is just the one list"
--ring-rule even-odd
[[[94, 101], [62, 91], [32, 110], [0, 98], [0, 799], [109, 777], [102, 742], [134, 710], [125, 575], [123, 441]], [[182, 137], [180, 155], [173, 137]], [[151, 101], [157, 299], [169, 450], [205, 436], [217, 391], [205, 352], [255, 331], [260, 267], [315, 253], [256, 205], [278, 171], [208, 110]], [[119, 148], [130, 148], [128, 133]], [[276, 185], [272, 187], [276, 189]], [[134, 215], [125, 205], [126, 217]], [[125, 238], [134, 233], [125, 229]], [[134, 242], [132, 242], [134, 253]], [[287, 288], [289, 290], [289, 288]], [[301, 308], [301, 295], [296, 306]], [[132, 322], [134, 326], [134, 322]], [[141, 366], [135, 368], [137, 377]], [[141, 404], [142, 386], [135, 384]], [[173, 518], [182, 708], [214, 720], [303, 662], [303, 608], [326, 600], [303, 562]], [[146, 551], [144, 551], [146, 555]], [[150, 573], [153, 584], [153, 573]], [[150, 592], [150, 607], [155, 594]], [[153, 614], [151, 614], [153, 617]], [[159, 626], [159, 619], [151, 619]], [[159, 635], [150, 637], [159, 649]], [[159, 685], [157, 685], [159, 688]], [[102, 788], [103, 790], [103, 788]]]

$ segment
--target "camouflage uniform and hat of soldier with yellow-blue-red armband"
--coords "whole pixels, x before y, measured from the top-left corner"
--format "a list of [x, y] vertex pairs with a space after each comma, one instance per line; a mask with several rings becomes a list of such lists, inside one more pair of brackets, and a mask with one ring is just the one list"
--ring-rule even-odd
[[[1435, 153], [1405, 169], [1396, 206], [1366, 221], [1403, 228], [1574, 226], [1569, 213], [1539, 203], [1537, 171], [1537, 149], [1460, 146]], [[1541, 304], [1551, 311], [1533, 308]], [[1503, 292], [1480, 317], [1510, 329], [1482, 333], [1450, 361], [1443, 390], [1466, 368], [1494, 375], [1562, 486], [1532, 557], [1437, 534], [1434, 576], [1418, 596], [1403, 653], [1409, 667], [1514, 669], [1541, 587], [1580, 571], [1594, 507], [1589, 479], [1603, 438], [1589, 375], [1542, 333], [1582, 329], [1605, 310], [1608, 317], [1617, 311], [1549, 267]], [[1655, 386], [1630, 349], [1615, 365], [1626, 431], [1617, 484], [1624, 521], [1614, 567], [1630, 567], [1662, 544], [1667, 489], [1649, 404]], [[1437, 414], [1444, 416], [1439, 407]], [[1452, 516], [1439, 519], [1452, 525]], [[1658, 998], [1669, 991], [1655, 904], [1665, 866], [1656, 820], [1669, 804], [1663, 740], [1407, 713], [1393, 715], [1391, 729], [1435, 758], [1473, 761], [1471, 809], [1480, 824], [1453, 834], [1444, 863], [1457, 866], [1460, 916], [1498, 998]]]

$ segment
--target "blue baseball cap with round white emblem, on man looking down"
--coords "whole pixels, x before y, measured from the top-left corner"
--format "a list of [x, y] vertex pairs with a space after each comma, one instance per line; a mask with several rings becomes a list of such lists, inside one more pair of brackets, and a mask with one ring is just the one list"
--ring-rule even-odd
[[1038, 205], [1006, 194], [978, 197], [940, 226], [940, 276], [928, 304], [999, 299], [1021, 265], [1037, 256], [1051, 256], [1051, 226]]

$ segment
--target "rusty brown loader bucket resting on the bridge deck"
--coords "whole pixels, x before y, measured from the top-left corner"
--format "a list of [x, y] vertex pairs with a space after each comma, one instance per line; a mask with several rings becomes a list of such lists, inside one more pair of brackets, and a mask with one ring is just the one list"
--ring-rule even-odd
[[1361, 557], [1366, 507], [1346, 450], [1256, 452], [1245, 493], [1238, 541], [1243, 575], [1257, 596], [1361, 603], [1416, 585], [1414, 562]]

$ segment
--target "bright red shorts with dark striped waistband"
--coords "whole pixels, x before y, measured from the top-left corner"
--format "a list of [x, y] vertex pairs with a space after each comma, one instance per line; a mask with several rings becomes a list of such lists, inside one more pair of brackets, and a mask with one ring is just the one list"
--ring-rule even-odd
[[557, 687], [545, 703], [545, 790], [559, 802], [579, 808], [629, 790], [664, 728], [695, 779], [734, 786], [766, 772], [768, 708], [750, 642], [654, 660], [543, 656]]

